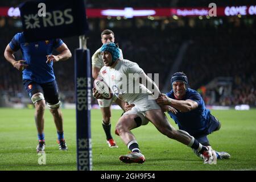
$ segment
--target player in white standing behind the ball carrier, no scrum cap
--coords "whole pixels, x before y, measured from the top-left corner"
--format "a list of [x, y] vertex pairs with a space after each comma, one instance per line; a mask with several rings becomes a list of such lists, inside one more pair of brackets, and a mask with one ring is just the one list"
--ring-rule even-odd
[[[112, 30], [104, 30], [101, 32], [101, 42], [102, 44], [114, 42], [114, 32]], [[120, 52], [120, 59], [123, 59], [122, 50], [119, 49]], [[98, 77], [98, 73], [100, 72], [100, 69], [104, 67], [104, 63], [102, 60], [100, 48], [97, 49], [97, 51], [92, 56], [92, 76], [93, 78]], [[116, 96], [113, 96], [110, 100], [105, 99], [98, 99], [98, 105], [101, 108], [102, 113], [102, 127], [106, 134], [106, 142], [109, 144], [110, 148], [118, 147], [115, 143], [112, 135], [111, 135], [111, 110], [110, 106], [112, 102], [115, 102], [118, 104], [123, 110], [124, 110], [124, 102], [119, 100]]]

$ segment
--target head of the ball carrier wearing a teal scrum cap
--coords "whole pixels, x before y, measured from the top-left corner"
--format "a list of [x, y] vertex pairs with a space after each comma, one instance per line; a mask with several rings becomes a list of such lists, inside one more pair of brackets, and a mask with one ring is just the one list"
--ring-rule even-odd
[[111, 67], [119, 59], [120, 51], [118, 44], [106, 43], [100, 49], [106, 67]]

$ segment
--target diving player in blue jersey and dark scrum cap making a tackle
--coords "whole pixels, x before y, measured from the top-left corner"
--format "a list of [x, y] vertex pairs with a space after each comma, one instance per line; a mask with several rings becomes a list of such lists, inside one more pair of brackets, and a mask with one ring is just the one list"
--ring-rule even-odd
[[[180, 130], [187, 131], [204, 146], [210, 143], [207, 135], [217, 131], [221, 127], [220, 121], [210, 114], [205, 108], [203, 98], [196, 90], [188, 88], [188, 78], [183, 72], [174, 73], [171, 78], [172, 90], [167, 94], [161, 94], [156, 102], [168, 111]], [[177, 113], [170, 111], [174, 107]], [[201, 157], [199, 152], [195, 151]], [[229, 159], [227, 152], [217, 152], [218, 159]]]

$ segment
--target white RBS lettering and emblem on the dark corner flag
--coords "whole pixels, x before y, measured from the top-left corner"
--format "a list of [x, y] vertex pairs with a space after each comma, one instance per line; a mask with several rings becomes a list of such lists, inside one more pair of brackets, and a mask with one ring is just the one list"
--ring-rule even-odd
[[46, 12], [46, 16], [38, 16], [38, 14], [24, 15], [26, 29], [61, 26], [63, 24], [73, 23], [72, 9], [64, 11], [56, 10], [52, 13]]

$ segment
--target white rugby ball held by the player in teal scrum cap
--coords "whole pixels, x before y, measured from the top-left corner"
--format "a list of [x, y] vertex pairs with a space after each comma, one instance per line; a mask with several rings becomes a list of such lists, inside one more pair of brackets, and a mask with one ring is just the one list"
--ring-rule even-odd
[[110, 88], [108, 84], [103, 80], [103, 78], [96, 78], [93, 82], [94, 88], [98, 91], [98, 93], [101, 94], [103, 98], [106, 100], [109, 100], [110, 98], [113, 97], [113, 93], [111, 93]]

